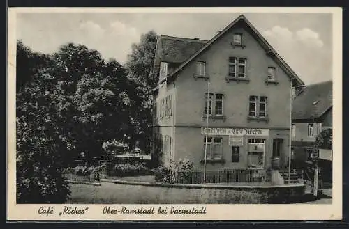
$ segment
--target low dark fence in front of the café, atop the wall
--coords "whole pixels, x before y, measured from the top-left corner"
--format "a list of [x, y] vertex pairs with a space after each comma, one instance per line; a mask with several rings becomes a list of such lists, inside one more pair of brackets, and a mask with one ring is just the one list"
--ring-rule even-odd
[[269, 182], [270, 175], [258, 169], [225, 169], [221, 171], [179, 172], [174, 175], [174, 182], [179, 184]]

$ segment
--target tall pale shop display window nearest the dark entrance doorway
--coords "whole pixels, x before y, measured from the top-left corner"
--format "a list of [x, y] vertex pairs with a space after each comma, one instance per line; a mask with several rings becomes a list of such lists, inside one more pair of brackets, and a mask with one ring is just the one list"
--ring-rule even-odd
[[248, 139], [248, 168], [264, 168], [265, 139]]

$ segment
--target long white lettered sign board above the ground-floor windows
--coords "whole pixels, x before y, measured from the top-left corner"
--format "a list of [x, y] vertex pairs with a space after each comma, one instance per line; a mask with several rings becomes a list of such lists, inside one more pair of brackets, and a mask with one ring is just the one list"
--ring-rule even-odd
[[205, 135], [232, 135], [232, 136], [269, 136], [269, 129], [258, 128], [206, 128], [201, 127], [201, 134]]

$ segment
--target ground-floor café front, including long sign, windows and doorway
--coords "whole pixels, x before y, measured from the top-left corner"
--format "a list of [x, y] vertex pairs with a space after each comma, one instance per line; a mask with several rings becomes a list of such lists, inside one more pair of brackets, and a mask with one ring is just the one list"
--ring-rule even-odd
[[199, 168], [206, 163], [208, 170], [266, 169], [274, 158], [283, 166], [288, 164], [288, 130], [201, 127], [200, 135], [195, 134], [197, 130], [177, 129], [176, 159], [186, 157]]

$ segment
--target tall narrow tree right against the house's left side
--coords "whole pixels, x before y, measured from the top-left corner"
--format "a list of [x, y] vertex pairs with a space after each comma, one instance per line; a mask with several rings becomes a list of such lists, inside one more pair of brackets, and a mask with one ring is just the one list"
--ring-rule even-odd
[[149, 151], [151, 142], [151, 107], [153, 97], [151, 89], [158, 83], [158, 76], [151, 74], [154, 65], [156, 49], [156, 33], [149, 31], [143, 34], [138, 44], [132, 45], [132, 52], [128, 55], [126, 68], [129, 79], [138, 84], [135, 106], [132, 111], [135, 138], [144, 139], [142, 149]]

